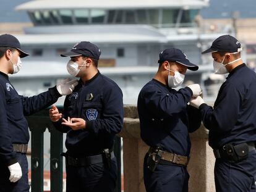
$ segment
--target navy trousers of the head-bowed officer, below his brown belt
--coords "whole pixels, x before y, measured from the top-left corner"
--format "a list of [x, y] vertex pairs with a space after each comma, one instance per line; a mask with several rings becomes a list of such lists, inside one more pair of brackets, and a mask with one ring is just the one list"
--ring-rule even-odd
[[186, 167], [177, 165], [157, 165], [154, 172], [147, 168], [144, 158], [144, 184], [147, 192], [187, 192], [189, 173]]

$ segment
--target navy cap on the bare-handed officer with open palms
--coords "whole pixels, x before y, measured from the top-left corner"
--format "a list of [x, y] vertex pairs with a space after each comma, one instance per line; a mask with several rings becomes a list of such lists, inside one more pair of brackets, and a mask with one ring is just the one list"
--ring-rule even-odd
[[81, 41], [73, 46], [69, 52], [61, 54], [61, 57], [87, 56], [94, 59], [100, 59], [101, 51], [96, 44], [89, 41]]

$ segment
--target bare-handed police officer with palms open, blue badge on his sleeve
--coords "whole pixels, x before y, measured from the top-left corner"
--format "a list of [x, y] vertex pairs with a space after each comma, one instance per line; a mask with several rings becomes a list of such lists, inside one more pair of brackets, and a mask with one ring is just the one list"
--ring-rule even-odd
[[70, 75], [80, 77], [79, 85], [64, 101], [64, 114], [56, 106], [49, 110], [54, 126], [67, 133], [67, 192], [113, 191], [116, 186], [113, 143], [123, 125], [122, 91], [98, 71], [100, 54], [88, 41], [61, 54], [70, 57]]

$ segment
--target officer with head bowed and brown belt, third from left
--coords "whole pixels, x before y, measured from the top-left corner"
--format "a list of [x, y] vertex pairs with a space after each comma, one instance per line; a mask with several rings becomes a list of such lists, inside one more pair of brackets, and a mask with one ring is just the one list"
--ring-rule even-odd
[[159, 68], [153, 80], [140, 91], [138, 112], [140, 135], [150, 146], [144, 159], [147, 192], [188, 191], [189, 132], [201, 124], [198, 109], [187, 105], [202, 94], [198, 84], [176, 91], [186, 70], [197, 70], [179, 49], [160, 52]]

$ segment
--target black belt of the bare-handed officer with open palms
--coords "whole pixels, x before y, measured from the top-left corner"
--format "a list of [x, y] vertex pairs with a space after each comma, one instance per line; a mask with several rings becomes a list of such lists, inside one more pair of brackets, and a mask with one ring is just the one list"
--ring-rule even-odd
[[[63, 155], [66, 157], [66, 164], [74, 167], [88, 166], [90, 164], [98, 164], [105, 161], [104, 154], [98, 154], [96, 156], [85, 156], [85, 157], [72, 157]], [[114, 158], [114, 152], [111, 152], [111, 159]]]

